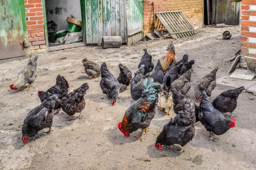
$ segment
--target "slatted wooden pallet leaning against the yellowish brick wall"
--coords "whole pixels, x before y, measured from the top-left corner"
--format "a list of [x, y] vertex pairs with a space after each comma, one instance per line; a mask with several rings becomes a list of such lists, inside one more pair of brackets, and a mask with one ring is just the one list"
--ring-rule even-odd
[[194, 27], [189, 23], [182, 11], [163, 11], [156, 13], [156, 16], [174, 39], [195, 34]]

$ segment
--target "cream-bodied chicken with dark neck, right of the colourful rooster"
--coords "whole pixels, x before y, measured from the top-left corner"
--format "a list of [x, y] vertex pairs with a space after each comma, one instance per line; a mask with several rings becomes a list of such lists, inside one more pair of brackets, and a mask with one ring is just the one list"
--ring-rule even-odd
[[157, 105], [160, 107], [160, 110], [163, 110], [163, 108], [165, 109], [166, 115], [170, 114], [170, 109], [173, 106], [172, 92], [170, 91], [169, 87], [166, 86], [165, 83], [161, 85], [161, 91], [158, 94]]

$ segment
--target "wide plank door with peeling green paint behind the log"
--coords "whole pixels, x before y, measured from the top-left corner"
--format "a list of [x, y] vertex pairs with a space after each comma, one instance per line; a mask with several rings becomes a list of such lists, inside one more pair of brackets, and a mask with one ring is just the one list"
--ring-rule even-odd
[[[101, 43], [103, 36], [121, 36], [126, 42], [125, 0], [80, 0], [83, 39]], [[85, 22], [84, 22], [85, 21]]]

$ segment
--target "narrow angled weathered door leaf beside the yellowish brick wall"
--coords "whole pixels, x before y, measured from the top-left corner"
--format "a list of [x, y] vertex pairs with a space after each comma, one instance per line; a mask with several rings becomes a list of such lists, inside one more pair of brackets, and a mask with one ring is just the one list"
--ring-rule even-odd
[[144, 0], [127, 0], [127, 44], [143, 38]]

